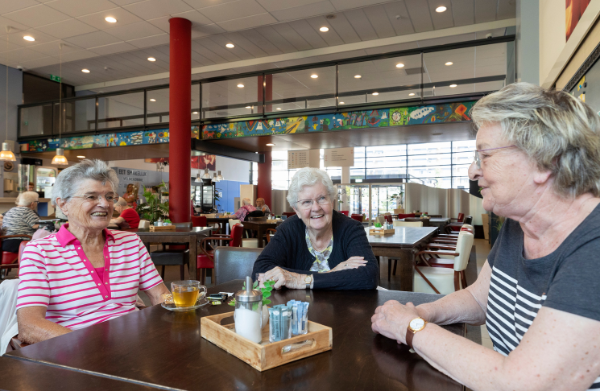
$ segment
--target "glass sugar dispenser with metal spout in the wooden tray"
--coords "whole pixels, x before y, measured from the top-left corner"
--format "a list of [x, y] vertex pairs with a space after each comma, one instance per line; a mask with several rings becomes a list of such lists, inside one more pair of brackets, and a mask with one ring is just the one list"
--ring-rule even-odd
[[235, 332], [252, 342], [262, 341], [262, 292], [252, 289], [252, 278], [246, 277], [246, 289], [235, 294]]

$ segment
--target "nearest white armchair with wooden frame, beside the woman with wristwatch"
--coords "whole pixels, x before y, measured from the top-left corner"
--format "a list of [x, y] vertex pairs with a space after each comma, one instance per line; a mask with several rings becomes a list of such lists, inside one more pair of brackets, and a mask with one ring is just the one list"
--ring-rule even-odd
[[469, 263], [472, 247], [473, 234], [461, 231], [455, 251], [419, 251], [417, 257], [436, 254], [438, 256], [452, 257], [453, 262], [446, 267], [422, 266], [415, 263], [413, 291], [447, 295], [466, 288], [467, 279], [465, 277], [465, 269]]

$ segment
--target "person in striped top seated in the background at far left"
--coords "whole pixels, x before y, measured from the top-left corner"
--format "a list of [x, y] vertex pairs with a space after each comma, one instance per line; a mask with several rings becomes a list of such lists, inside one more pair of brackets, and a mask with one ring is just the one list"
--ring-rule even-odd
[[[33, 191], [26, 191], [17, 197], [17, 206], [9, 209], [4, 214], [2, 229], [5, 235], [29, 235], [32, 236], [39, 228], [40, 216], [36, 213], [39, 195]], [[2, 251], [11, 253], [19, 252], [19, 245], [27, 238], [14, 238], [2, 241]]]

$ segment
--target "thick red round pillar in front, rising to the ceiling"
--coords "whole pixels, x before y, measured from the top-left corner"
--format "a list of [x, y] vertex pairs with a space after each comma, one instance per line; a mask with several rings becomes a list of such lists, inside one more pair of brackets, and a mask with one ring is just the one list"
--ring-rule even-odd
[[190, 213], [192, 154], [192, 23], [169, 19], [169, 218], [192, 221]]

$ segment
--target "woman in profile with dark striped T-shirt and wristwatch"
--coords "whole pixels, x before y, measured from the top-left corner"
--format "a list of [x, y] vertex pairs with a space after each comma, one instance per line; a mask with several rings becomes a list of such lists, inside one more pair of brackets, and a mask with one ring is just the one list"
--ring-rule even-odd
[[[528, 83], [481, 99], [471, 180], [506, 217], [477, 281], [414, 307], [387, 302], [372, 328], [474, 390], [600, 388], [600, 117]], [[439, 325], [486, 324], [494, 350]]]

